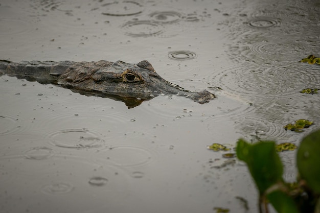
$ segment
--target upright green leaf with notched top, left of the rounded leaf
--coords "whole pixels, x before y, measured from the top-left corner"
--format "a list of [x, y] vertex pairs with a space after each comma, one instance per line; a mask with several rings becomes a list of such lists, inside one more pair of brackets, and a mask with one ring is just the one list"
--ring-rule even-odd
[[275, 142], [260, 141], [250, 145], [245, 140], [239, 139], [237, 156], [239, 160], [247, 163], [260, 194], [263, 194], [271, 185], [283, 181], [282, 162], [276, 152]]

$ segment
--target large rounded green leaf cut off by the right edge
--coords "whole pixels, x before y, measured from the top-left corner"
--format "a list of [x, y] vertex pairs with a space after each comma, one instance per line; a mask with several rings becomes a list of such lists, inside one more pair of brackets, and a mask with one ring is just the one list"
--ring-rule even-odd
[[309, 187], [320, 193], [320, 130], [303, 138], [297, 153], [297, 166]]

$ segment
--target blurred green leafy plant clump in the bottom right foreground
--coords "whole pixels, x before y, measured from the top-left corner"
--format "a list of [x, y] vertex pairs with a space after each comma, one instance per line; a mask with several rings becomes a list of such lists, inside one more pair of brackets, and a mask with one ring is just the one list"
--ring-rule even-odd
[[296, 156], [296, 182], [285, 182], [275, 141], [249, 144], [238, 140], [237, 156], [244, 161], [259, 191], [259, 210], [269, 212], [270, 203], [279, 213], [320, 212], [320, 130], [301, 141]]

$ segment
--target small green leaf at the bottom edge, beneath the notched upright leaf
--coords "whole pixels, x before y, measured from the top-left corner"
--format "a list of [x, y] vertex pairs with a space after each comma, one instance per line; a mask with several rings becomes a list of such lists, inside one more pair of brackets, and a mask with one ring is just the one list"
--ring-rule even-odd
[[279, 213], [299, 213], [294, 200], [282, 191], [273, 191], [267, 198]]

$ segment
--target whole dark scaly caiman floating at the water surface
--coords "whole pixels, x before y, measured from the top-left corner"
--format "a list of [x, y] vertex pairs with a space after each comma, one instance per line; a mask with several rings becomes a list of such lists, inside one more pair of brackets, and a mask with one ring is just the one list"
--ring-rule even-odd
[[107, 97], [126, 103], [128, 108], [140, 105], [160, 94], [184, 96], [200, 104], [215, 95], [207, 90], [192, 92], [159, 76], [152, 65], [143, 60], [137, 64], [123, 61], [21, 61], [0, 60], [0, 75], [55, 84], [86, 95]]

